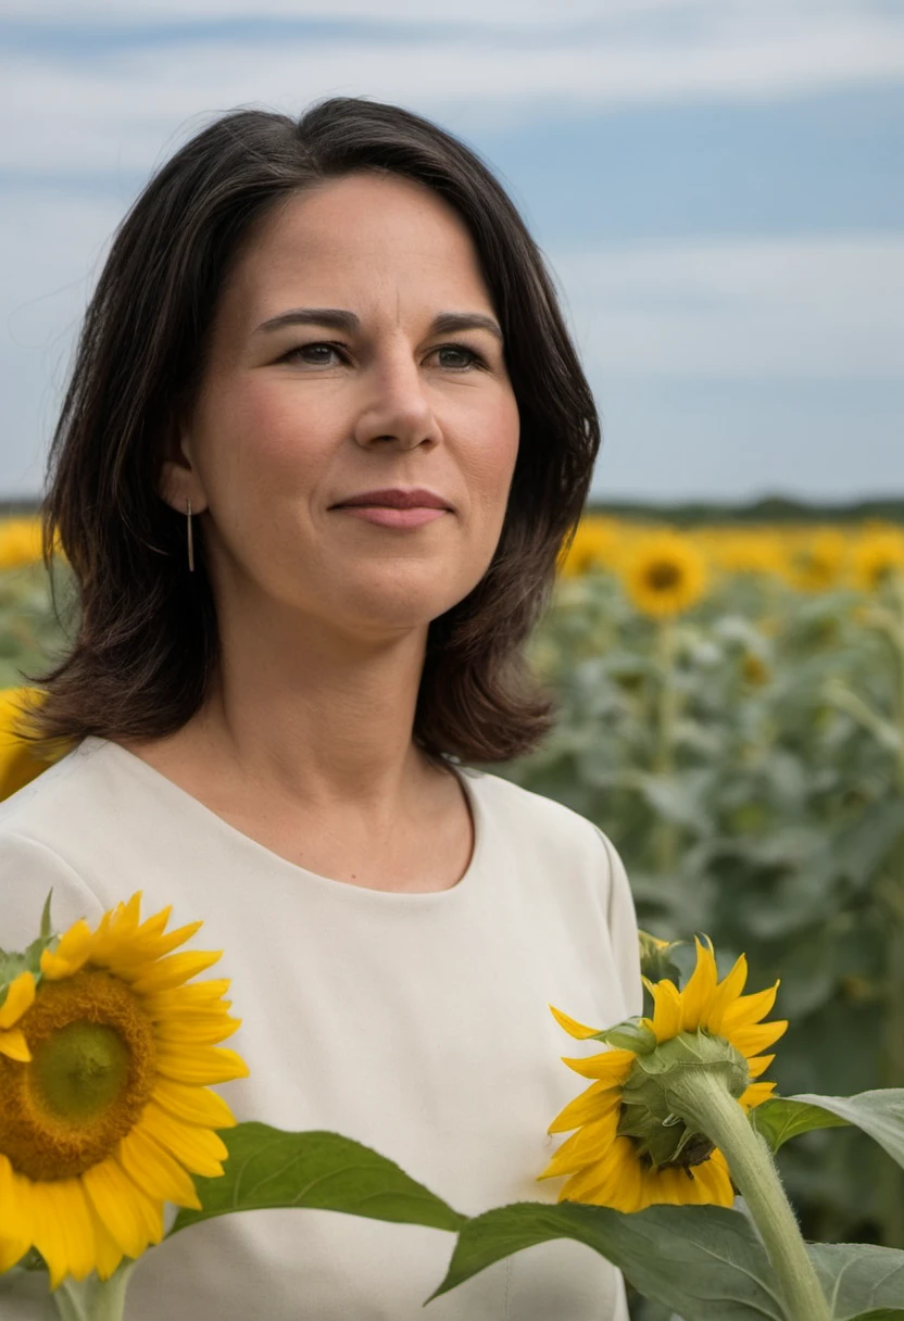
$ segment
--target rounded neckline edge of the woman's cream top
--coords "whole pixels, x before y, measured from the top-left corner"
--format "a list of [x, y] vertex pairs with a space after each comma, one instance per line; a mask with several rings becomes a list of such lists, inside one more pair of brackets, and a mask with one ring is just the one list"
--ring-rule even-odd
[[[464, 793], [465, 802], [468, 804], [468, 811], [471, 814], [471, 827], [472, 827], [472, 849], [471, 860], [464, 871], [464, 875], [456, 881], [455, 885], [449, 885], [444, 890], [381, 890], [371, 885], [356, 885], [353, 881], [340, 881], [330, 876], [322, 876], [320, 872], [312, 872], [307, 867], [300, 867], [297, 863], [289, 861], [288, 857], [283, 857], [282, 853], [274, 852], [272, 848], [267, 848], [260, 840], [254, 839], [251, 835], [246, 835], [245, 831], [239, 830], [227, 822], [219, 812], [215, 812], [206, 803], [202, 803], [200, 798], [190, 794], [186, 789], [182, 789], [176, 781], [164, 775], [163, 771], [157, 770], [149, 762], [137, 757], [128, 748], [123, 748], [122, 744], [115, 742], [112, 738], [100, 738], [96, 734], [87, 734], [82, 742], [81, 748], [94, 745], [95, 749], [112, 749], [114, 758], [119, 758], [124, 765], [131, 766], [132, 770], [140, 777], [144, 775], [148, 783], [155, 783], [157, 789], [163, 789], [164, 793], [177, 799], [182, 807], [186, 807], [194, 812], [198, 818], [206, 819], [213, 824], [215, 830], [225, 834], [227, 838], [239, 840], [243, 847], [250, 848], [252, 852], [262, 853], [271, 863], [288, 868], [296, 876], [304, 877], [307, 881], [313, 882], [320, 886], [329, 886], [334, 893], [350, 892], [356, 894], [369, 894], [374, 896], [378, 902], [403, 902], [403, 904], [436, 904], [443, 901], [449, 901], [449, 897], [456, 894], [463, 888], [465, 890], [473, 886], [473, 876], [477, 872], [485, 840], [485, 818], [484, 810], [480, 803], [477, 794], [473, 787], [468, 783], [467, 768], [459, 769], [457, 766], [449, 765], [449, 770], [456, 777], [461, 785], [461, 791]], [[472, 774], [478, 774], [473, 773]]]

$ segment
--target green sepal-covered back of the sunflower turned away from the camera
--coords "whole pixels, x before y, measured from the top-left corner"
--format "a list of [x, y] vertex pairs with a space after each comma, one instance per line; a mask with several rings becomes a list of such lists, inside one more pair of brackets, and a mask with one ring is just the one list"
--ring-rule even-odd
[[749, 1085], [744, 1055], [706, 1032], [682, 1032], [637, 1055], [622, 1086], [617, 1132], [634, 1139], [641, 1162], [690, 1170], [710, 1159], [715, 1144], [693, 1122], [694, 1083], [702, 1074], [735, 1099]]

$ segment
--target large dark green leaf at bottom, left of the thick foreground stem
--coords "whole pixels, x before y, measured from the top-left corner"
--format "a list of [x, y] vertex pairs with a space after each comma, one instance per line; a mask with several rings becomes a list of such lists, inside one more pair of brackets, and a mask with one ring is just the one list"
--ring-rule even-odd
[[653, 1206], [632, 1215], [576, 1202], [502, 1206], [464, 1225], [432, 1297], [513, 1252], [560, 1238], [608, 1258], [640, 1293], [683, 1321], [785, 1318], [753, 1226], [740, 1211], [719, 1206]]

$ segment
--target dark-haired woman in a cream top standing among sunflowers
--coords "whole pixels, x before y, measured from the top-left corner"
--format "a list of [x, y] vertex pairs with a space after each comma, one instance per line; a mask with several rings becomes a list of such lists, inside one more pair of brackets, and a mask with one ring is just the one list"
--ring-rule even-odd
[[[547, 1004], [640, 1011], [608, 841], [463, 766], [550, 725], [522, 646], [597, 444], [492, 174], [423, 119], [334, 99], [227, 115], [151, 181], [50, 457], [81, 618], [36, 719], [77, 745], [0, 808], [4, 943], [50, 886], [58, 926], [136, 888], [204, 917], [243, 1018], [238, 1118], [356, 1137], [468, 1214], [558, 1190], [535, 1178], [575, 1086]], [[132, 1316], [406, 1321], [451, 1246], [230, 1217], [145, 1258]], [[430, 1314], [626, 1310], [608, 1263], [558, 1243]]]

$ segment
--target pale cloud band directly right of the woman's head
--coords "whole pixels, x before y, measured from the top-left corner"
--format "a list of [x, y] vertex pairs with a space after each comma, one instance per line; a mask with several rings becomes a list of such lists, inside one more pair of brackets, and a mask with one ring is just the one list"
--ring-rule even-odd
[[904, 238], [697, 242], [554, 264], [603, 380], [904, 376]]

